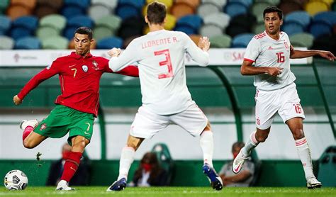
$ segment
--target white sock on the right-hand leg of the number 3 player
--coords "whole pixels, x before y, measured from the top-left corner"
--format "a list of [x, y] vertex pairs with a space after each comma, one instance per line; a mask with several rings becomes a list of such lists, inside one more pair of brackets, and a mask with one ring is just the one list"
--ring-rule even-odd
[[213, 167], [213, 133], [211, 130], [203, 131], [199, 142], [203, 151], [204, 164], [207, 163]]

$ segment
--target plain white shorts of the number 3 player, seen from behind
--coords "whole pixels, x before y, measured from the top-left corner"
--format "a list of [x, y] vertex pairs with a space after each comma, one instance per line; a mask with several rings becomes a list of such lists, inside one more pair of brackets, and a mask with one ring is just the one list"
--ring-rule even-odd
[[169, 124], [179, 125], [190, 135], [201, 135], [208, 124], [208, 118], [203, 111], [192, 104], [185, 111], [172, 115], [158, 115], [141, 106], [136, 113], [130, 128], [130, 135], [140, 138], [152, 138], [160, 130], [167, 128]]

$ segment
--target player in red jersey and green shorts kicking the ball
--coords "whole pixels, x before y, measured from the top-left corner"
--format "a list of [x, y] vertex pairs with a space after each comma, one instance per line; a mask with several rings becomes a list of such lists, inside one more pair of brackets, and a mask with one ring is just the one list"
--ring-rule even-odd
[[[60, 138], [69, 132], [68, 142], [72, 150], [65, 162], [61, 181], [57, 190], [73, 190], [67, 183], [77, 170], [84, 148], [89, 144], [93, 132], [94, 117], [99, 108], [99, 80], [104, 72], [113, 72], [108, 60], [91, 55], [92, 30], [78, 28], [74, 33], [75, 52], [57, 58], [52, 64], [35, 75], [13, 97], [20, 105], [25, 96], [38, 84], [55, 74], [59, 74], [62, 94], [57, 96], [55, 108], [44, 120], [23, 120], [23, 146], [33, 148], [47, 139]], [[138, 67], [128, 66], [118, 74], [138, 77]]]

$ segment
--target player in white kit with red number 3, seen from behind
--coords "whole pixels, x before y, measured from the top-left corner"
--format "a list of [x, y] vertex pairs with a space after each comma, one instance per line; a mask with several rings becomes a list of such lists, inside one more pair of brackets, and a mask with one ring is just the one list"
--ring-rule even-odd
[[121, 152], [119, 176], [107, 191], [121, 191], [126, 186], [128, 171], [135, 151], [144, 139], [174, 123], [192, 136], [200, 136], [203, 151], [203, 172], [211, 186], [220, 190], [223, 183], [213, 169], [213, 133], [208, 118], [196, 103], [186, 86], [185, 54], [202, 67], [208, 65], [208, 38], [201, 38], [198, 46], [188, 35], [164, 30], [166, 6], [153, 2], [147, 6], [145, 21], [150, 33], [134, 39], [119, 56], [121, 50], [113, 48], [110, 67], [113, 71], [128, 64], [138, 63], [142, 93], [142, 106], [130, 128], [126, 147]]

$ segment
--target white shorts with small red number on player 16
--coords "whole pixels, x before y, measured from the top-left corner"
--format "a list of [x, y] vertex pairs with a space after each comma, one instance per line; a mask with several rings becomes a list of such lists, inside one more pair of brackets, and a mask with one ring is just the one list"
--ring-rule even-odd
[[255, 94], [255, 125], [259, 129], [271, 126], [276, 112], [279, 113], [284, 123], [291, 118], [305, 118], [303, 108], [298, 98], [296, 84], [290, 84], [282, 89], [272, 91], [258, 90]]

